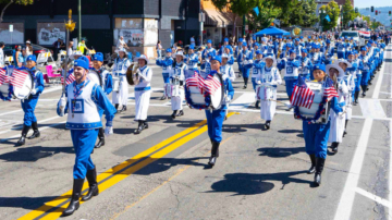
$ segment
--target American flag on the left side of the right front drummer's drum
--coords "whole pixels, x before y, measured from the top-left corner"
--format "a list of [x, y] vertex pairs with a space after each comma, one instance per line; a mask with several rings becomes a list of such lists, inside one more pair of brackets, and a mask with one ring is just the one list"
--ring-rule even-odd
[[305, 107], [310, 109], [315, 99], [315, 93], [307, 87], [303, 77], [298, 77], [298, 84], [294, 87], [292, 98], [290, 100], [292, 106]]

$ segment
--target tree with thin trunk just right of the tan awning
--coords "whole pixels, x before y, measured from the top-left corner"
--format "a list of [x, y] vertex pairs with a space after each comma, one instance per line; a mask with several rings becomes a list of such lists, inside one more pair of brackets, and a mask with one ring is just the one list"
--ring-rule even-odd
[[234, 32], [235, 32], [235, 24], [238, 16], [242, 17], [249, 14], [252, 10], [256, 5], [258, 5], [258, 2], [260, 0], [211, 0], [211, 1], [219, 11], [228, 10], [234, 13]]

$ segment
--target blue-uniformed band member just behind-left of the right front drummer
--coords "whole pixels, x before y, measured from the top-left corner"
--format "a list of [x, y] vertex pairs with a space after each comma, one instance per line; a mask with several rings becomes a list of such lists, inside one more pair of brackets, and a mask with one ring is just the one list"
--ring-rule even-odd
[[[286, 86], [286, 93], [289, 96], [289, 100], [291, 99], [293, 89], [295, 85], [297, 84], [298, 80], [298, 68], [299, 68], [299, 61], [295, 60], [295, 51], [290, 50], [289, 51], [290, 58], [282, 59], [281, 62], [278, 64], [279, 70], [285, 70], [284, 74], [284, 81]], [[289, 106], [289, 108], [293, 108], [292, 106]]]

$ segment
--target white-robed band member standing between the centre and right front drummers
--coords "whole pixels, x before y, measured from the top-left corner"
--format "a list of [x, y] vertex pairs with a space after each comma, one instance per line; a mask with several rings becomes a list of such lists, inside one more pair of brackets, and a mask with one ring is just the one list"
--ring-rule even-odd
[[277, 65], [277, 60], [272, 53], [267, 54], [262, 59], [262, 63], [265, 65], [257, 77], [257, 83], [261, 84], [262, 87], [260, 89], [264, 89], [264, 96], [266, 96], [261, 99], [260, 117], [266, 120], [266, 129], [269, 130], [277, 110], [277, 87], [282, 84], [282, 78], [274, 66]]

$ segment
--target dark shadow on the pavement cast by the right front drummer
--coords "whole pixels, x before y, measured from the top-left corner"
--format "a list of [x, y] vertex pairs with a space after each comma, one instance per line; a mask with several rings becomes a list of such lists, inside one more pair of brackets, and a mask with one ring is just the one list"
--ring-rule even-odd
[[211, 185], [212, 191], [206, 193], [234, 193], [232, 196], [262, 194], [274, 187], [274, 184], [268, 181], [280, 181], [283, 185], [289, 183], [311, 184], [311, 181], [292, 178], [293, 175], [303, 173], [306, 173], [306, 171], [281, 173], [229, 173], [224, 175], [223, 180], [215, 182]]

